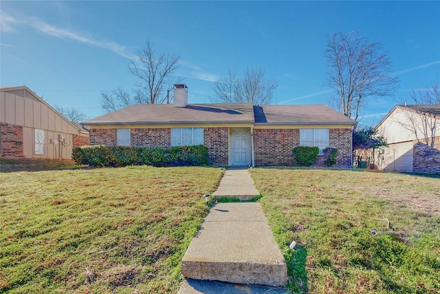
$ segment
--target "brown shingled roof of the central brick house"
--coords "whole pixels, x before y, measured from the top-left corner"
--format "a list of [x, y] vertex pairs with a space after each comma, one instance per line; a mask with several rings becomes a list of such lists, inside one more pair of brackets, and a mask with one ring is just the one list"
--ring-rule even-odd
[[85, 125], [155, 125], [164, 123], [255, 123], [272, 125], [355, 125], [325, 105], [261, 105], [206, 103], [174, 107], [171, 104], [132, 105], [84, 122]]

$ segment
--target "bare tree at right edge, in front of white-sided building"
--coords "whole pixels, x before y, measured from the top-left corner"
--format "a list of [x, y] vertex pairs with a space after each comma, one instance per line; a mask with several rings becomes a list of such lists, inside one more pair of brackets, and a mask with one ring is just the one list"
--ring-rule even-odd
[[403, 116], [395, 118], [405, 129], [415, 135], [417, 141], [434, 147], [436, 133], [440, 127], [440, 90], [439, 83], [433, 83], [426, 89], [413, 89], [412, 100], [415, 105], [405, 101]]

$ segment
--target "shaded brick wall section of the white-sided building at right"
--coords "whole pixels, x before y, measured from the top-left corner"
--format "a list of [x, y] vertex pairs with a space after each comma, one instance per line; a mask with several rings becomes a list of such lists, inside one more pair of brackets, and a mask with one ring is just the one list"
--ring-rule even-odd
[[423, 143], [414, 145], [412, 171], [421, 174], [440, 174], [440, 137], [435, 138], [434, 148]]

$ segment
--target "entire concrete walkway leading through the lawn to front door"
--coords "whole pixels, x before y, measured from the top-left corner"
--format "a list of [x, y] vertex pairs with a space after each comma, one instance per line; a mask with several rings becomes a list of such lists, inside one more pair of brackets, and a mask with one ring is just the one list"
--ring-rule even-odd
[[[243, 195], [260, 195], [249, 171], [228, 169], [214, 196]], [[285, 260], [258, 202], [214, 204], [181, 261], [181, 272], [187, 278], [181, 294], [285, 293], [274, 287], [287, 284]]]

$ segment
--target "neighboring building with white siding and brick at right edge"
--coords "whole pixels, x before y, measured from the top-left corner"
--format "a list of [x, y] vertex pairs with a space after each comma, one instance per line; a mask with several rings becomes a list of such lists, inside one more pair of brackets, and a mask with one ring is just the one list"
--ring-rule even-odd
[[[377, 124], [388, 147], [375, 156], [383, 171], [440, 173], [440, 105], [396, 105]], [[433, 147], [431, 147], [434, 140]]]

